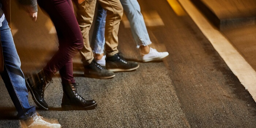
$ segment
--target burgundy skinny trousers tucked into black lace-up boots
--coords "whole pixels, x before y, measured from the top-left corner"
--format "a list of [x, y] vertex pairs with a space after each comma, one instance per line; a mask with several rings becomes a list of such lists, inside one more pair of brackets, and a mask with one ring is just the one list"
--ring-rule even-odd
[[74, 83], [72, 58], [83, 48], [83, 37], [74, 14], [71, 0], [38, 0], [56, 28], [59, 50], [43, 69], [48, 77], [60, 71], [63, 83]]

